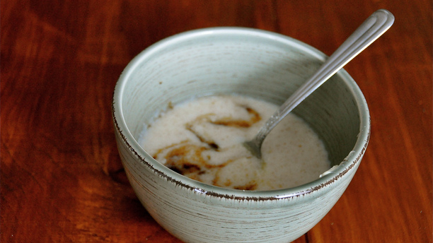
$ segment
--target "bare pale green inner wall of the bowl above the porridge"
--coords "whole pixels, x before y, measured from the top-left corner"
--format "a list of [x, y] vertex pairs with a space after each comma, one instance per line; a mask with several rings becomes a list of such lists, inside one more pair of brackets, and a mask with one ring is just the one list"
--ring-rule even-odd
[[[138, 141], [158, 112], [194, 97], [238, 94], [280, 105], [324, 59], [325, 55], [304, 43], [269, 32], [192, 31], [139, 54], [116, 89], [122, 90], [120, 106], [127, 129]], [[368, 109], [359, 108], [363, 99], [356, 83], [342, 70], [293, 111], [321, 137], [334, 165], [357, 143], [361, 116], [368, 117]]]

